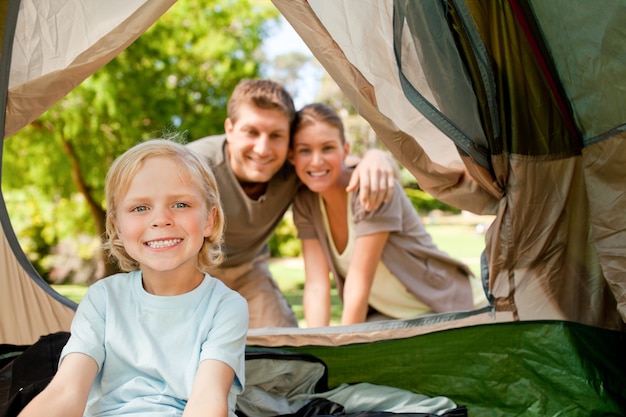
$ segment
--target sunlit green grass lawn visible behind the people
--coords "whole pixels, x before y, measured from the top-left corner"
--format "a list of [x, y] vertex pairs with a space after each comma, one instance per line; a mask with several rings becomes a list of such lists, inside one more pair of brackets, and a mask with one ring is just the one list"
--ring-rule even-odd
[[[489, 219], [487, 219], [489, 220]], [[485, 236], [476, 231], [478, 220], [447, 219], [426, 225], [426, 229], [439, 249], [450, 256], [465, 262], [476, 276], [480, 276], [480, 255], [485, 247]], [[271, 262], [270, 270], [278, 285], [291, 304], [301, 327], [305, 327], [302, 311], [302, 289], [304, 286], [304, 271], [300, 259], [277, 259]], [[67, 298], [80, 302], [87, 287], [84, 285], [53, 285], [57, 292]], [[341, 317], [341, 303], [337, 292], [332, 294], [331, 324], [339, 323]]]

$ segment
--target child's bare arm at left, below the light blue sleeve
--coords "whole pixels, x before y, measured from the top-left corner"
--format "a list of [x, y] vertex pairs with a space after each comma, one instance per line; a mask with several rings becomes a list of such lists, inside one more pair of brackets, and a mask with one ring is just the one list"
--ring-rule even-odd
[[19, 417], [82, 417], [98, 365], [82, 353], [70, 353], [61, 362], [50, 384]]

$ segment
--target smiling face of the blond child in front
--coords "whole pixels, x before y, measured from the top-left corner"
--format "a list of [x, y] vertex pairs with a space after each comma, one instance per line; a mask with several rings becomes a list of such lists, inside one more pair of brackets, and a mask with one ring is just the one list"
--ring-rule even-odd
[[116, 229], [144, 276], [197, 270], [198, 253], [213, 227], [200, 187], [166, 158], [150, 158], [119, 200]]

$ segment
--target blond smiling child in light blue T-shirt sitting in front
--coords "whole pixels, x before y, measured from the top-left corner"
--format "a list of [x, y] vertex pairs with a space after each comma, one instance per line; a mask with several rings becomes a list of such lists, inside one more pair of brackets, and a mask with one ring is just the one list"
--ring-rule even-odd
[[120, 156], [106, 179], [107, 248], [123, 271], [93, 284], [28, 416], [235, 416], [245, 300], [207, 271], [224, 217], [204, 158], [169, 140]]

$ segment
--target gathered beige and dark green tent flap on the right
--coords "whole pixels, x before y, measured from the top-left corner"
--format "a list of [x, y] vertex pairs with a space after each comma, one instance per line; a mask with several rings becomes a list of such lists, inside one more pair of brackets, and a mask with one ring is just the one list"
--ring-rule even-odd
[[273, 1], [423, 190], [496, 215], [496, 314], [624, 329], [626, 0]]

